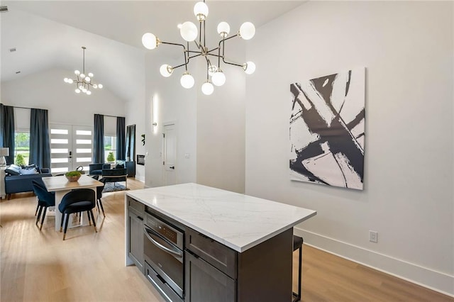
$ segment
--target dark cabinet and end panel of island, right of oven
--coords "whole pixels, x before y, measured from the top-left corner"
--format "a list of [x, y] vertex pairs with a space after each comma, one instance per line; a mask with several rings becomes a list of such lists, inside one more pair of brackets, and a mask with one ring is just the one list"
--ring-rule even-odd
[[291, 301], [292, 245], [292, 228], [245, 252], [187, 228], [184, 301]]

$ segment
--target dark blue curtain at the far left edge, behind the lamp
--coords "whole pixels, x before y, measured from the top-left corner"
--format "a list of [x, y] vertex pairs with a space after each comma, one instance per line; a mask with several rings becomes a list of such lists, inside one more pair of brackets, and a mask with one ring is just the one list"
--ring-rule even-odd
[[0, 147], [9, 147], [6, 164], [14, 163], [14, 107], [0, 104]]

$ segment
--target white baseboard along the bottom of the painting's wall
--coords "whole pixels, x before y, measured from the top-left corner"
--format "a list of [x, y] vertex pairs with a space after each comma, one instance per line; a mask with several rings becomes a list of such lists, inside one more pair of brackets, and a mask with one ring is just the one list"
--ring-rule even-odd
[[406, 262], [389, 255], [367, 250], [301, 228], [294, 228], [295, 235], [304, 237], [304, 243], [330, 254], [365, 265], [377, 271], [396, 276], [414, 284], [454, 297], [454, 276], [437, 272], [418, 264]]

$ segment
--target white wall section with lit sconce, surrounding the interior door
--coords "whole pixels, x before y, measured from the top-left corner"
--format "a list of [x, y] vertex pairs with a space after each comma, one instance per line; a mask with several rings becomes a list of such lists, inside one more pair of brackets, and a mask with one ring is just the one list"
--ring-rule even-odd
[[[159, 52], [165, 45], [145, 55], [145, 186], [162, 186], [162, 126], [175, 122], [177, 127], [177, 184], [196, 182], [196, 90], [179, 84], [182, 68], [172, 77], [159, 73], [162, 62]], [[175, 65], [173, 65], [175, 66]], [[157, 126], [152, 124], [156, 122]], [[189, 158], [185, 158], [185, 154]]]

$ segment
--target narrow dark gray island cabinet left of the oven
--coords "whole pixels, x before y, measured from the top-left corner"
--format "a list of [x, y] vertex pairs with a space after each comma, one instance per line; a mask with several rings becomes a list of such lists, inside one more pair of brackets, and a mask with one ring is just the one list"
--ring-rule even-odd
[[145, 273], [143, 257], [143, 218], [145, 206], [128, 198], [128, 256], [140, 272]]

